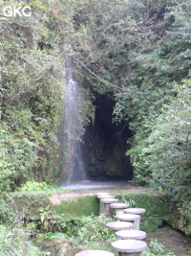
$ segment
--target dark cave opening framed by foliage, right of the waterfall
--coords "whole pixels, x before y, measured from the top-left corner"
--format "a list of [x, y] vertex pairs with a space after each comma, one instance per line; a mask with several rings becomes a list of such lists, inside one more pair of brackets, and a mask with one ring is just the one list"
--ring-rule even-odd
[[83, 161], [88, 179], [93, 181], [131, 180], [133, 168], [127, 139], [131, 130], [125, 122], [113, 123], [115, 102], [106, 96], [96, 99], [95, 120], [83, 136]]

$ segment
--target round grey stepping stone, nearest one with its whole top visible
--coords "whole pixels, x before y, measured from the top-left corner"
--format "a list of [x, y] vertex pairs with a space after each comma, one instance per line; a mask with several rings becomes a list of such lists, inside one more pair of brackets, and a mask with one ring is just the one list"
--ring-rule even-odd
[[145, 250], [147, 244], [139, 240], [117, 240], [112, 243], [113, 249], [118, 252], [118, 256], [139, 256]]

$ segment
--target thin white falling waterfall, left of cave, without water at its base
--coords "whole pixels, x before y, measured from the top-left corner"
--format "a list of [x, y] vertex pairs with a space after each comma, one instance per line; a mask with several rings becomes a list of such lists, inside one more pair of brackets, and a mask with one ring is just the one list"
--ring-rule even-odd
[[63, 120], [63, 175], [67, 176], [68, 183], [86, 179], [83, 163], [83, 153], [79, 140], [79, 88], [73, 78], [71, 59], [65, 63], [66, 92], [64, 97]]

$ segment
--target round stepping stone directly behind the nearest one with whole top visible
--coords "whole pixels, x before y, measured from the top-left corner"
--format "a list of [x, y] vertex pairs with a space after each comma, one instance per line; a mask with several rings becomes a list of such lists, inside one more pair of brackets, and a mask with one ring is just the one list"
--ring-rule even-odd
[[117, 240], [122, 239], [144, 239], [146, 232], [141, 230], [119, 230], [116, 232]]

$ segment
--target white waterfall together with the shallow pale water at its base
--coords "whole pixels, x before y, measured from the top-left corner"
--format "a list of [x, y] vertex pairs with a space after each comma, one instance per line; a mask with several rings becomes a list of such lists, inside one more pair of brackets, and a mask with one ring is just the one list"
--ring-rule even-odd
[[[61, 188], [73, 190], [102, 189], [121, 186], [116, 180], [104, 180], [93, 182], [88, 180], [84, 165], [84, 152], [80, 142], [79, 131], [79, 96], [80, 90], [77, 81], [74, 81], [72, 60], [69, 58], [65, 63], [66, 92], [64, 97], [64, 120], [63, 120], [63, 175], [67, 180]], [[127, 185], [127, 181], [122, 180]], [[131, 182], [131, 181], [129, 181]]]

